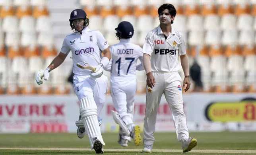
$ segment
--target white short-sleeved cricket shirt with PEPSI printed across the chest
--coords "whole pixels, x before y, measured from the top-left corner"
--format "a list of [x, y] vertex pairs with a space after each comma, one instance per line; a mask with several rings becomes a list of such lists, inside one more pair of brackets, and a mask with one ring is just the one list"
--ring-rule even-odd
[[165, 39], [159, 25], [147, 34], [142, 52], [151, 56], [152, 72], [176, 72], [180, 70], [178, 55], [186, 54], [184, 37], [172, 26]]

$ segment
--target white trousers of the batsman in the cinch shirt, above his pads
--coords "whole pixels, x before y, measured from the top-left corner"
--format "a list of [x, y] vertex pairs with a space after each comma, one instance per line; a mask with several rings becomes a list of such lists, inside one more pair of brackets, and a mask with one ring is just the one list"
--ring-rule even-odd
[[93, 96], [99, 116], [106, 101], [108, 77], [104, 74], [97, 79], [86, 76], [74, 76], [73, 83], [79, 100], [85, 96]]

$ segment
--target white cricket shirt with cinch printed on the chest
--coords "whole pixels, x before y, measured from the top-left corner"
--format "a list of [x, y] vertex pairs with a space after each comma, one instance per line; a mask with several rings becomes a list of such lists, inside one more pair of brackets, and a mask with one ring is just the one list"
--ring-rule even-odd
[[109, 47], [109, 44], [98, 30], [84, 28], [82, 34], [72, 33], [65, 37], [61, 52], [72, 52], [73, 73], [79, 76], [89, 75], [90, 70], [84, 70], [76, 66], [78, 62], [86, 62], [96, 67], [101, 62], [101, 51]]

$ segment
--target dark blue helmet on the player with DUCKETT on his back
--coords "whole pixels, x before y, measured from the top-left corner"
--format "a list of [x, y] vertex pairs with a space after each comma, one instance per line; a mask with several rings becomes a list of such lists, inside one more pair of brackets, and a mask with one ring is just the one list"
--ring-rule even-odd
[[134, 35], [134, 28], [132, 24], [128, 21], [122, 21], [121, 23], [119, 23], [115, 30], [117, 31], [116, 36], [118, 36], [119, 39], [132, 38], [132, 36]]

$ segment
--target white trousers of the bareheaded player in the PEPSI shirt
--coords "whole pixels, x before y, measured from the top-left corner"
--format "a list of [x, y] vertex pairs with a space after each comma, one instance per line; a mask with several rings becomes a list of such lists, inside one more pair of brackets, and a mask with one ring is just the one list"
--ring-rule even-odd
[[153, 145], [155, 138], [155, 123], [157, 110], [162, 95], [165, 95], [167, 103], [173, 114], [176, 135], [178, 141], [185, 140], [189, 137], [186, 116], [183, 109], [181, 77], [178, 72], [153, 72], [155, 77], [155, 87], [146, 92], [146, 110], [144, 118], [144, 146]]

